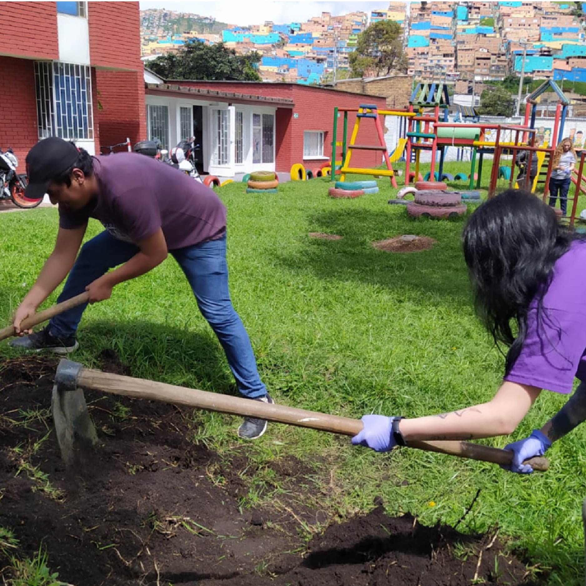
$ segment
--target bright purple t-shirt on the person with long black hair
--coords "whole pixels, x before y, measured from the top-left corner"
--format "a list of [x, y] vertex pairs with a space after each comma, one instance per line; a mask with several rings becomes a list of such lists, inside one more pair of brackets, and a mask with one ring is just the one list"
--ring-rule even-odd
[[554, 266], [553, 280], [527, 316], [527, 337], [505, 380], [571, 393], [574, 377], [586, 380], [586, 243], [574, 242]]

